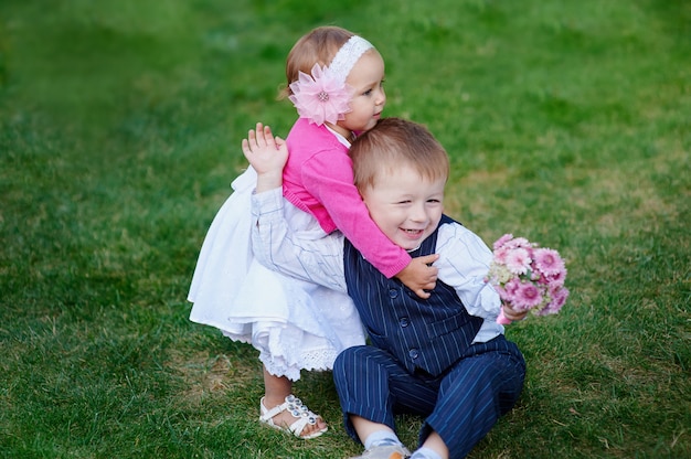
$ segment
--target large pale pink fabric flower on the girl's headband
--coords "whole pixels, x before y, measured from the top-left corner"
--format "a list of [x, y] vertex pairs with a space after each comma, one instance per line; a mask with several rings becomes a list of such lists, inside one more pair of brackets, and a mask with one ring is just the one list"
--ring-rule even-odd
[[300, 118], [307, 118], [318, 126], [336, 124], [351, 110], [351, 88], [319, 64], [315, 64], [311, 75], [300, 72], [298, 81], [290, 83], [290, 90], [293, 95], [288, 98]]

